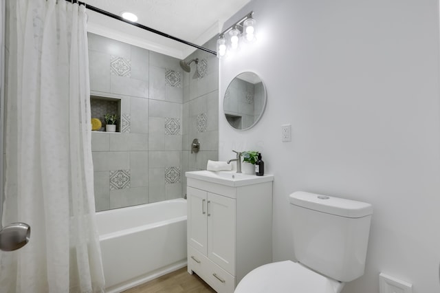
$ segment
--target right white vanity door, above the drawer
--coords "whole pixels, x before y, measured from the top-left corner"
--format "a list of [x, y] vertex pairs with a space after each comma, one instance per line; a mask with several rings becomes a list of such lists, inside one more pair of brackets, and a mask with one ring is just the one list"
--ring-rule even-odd
[[208, 258], [235, 275], [235, 199], [208, 193]]

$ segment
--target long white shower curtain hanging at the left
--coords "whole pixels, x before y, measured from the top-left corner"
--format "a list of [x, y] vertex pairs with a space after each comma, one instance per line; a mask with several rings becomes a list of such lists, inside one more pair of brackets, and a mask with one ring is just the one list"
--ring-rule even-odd
[[104, 292], [95, 223], [84, 6], [6, 1], [3, 224], [30, 242], [0, 253], [1, 292]]

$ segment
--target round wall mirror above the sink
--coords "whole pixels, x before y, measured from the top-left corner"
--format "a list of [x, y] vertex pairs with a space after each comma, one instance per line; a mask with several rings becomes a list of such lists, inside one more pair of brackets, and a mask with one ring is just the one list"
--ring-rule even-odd
[[263, 80], [253, 72], [236, 76], [226, 89], [223, 112], [234, 129], [253, 127], [263, 115], [266, 105], [266, 89]]

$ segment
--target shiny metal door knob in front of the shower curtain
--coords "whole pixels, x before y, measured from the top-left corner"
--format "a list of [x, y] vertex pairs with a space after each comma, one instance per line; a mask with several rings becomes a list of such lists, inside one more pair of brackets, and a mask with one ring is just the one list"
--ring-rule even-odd
[[12, 251], [22, 248], [29, 242], [30, 226], [25, 223], [12, 223], [0, 227], [0, 250]]

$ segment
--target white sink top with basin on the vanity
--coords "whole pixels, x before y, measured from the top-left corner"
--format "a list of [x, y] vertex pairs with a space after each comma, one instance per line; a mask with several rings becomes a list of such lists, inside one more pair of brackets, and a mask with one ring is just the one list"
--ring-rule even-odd
[[274, 181], [273, 175], [256, 176], [235, 171], [192, 171], [186, 172], [186, 177], [226, 186], [245, 186], [262, 182]]

